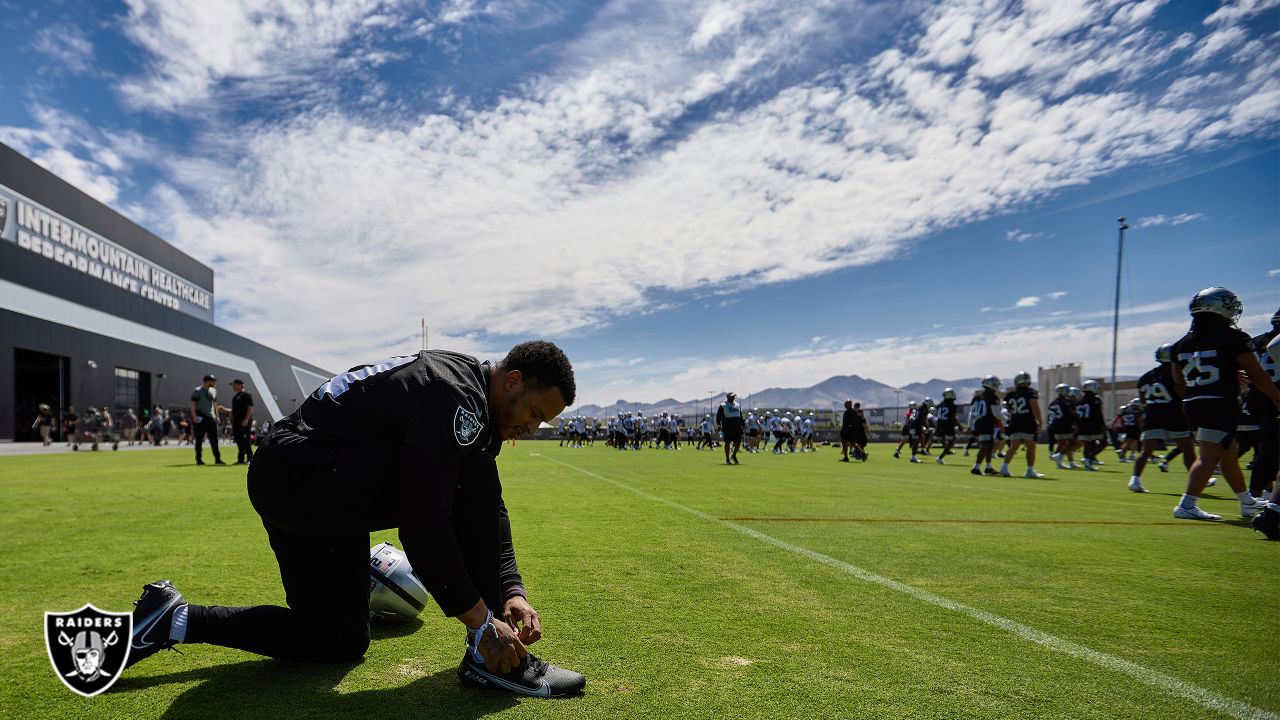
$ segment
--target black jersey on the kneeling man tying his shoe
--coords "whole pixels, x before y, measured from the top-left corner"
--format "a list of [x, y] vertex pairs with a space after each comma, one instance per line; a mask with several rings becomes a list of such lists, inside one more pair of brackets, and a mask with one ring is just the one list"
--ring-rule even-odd
[[489, 372], [488, 363], [440, 350], [388, 357], [330, 378], [273, 429], [306, 443], [410, 445], [445, 461], [475, 450], [497, 455]]

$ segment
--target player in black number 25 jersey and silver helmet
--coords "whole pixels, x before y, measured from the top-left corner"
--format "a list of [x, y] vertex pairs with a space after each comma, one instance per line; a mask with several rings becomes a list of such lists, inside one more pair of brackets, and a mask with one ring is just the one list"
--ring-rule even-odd
[[1236, 375], [1244, 370], [1254, 387], [1277, 405], [1280, 391], [1258, 364], [1249, 336], [1235, 327], [1244, 304], [1234, 292], [1225, 287], [1202, 290], [1189, 309], [1192, 329], [1172, 348], [1174, 383], [1183, 395], [1188, 421], [1198, 428], [1199, 457], [1188, 473], [1187, 493], [1174, 509], [1174, 518], [1220, 519], [1197, 505], [1215, 465], [1221, 465], [1222, 475], [1240, 500], [1240, 515], [1249, 518], [1265, 506], [1245, 491], [1236, 460], [1235, 427], [1240, 413]]

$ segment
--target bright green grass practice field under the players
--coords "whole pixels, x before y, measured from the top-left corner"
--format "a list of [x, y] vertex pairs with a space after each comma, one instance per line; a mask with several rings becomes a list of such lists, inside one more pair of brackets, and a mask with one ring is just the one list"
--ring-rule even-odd
[[[3, 717], [1275, 717], [1280, 543], [1220, 483], [1174, 520], [1185, 475], [974, 477], [838, 452], [503, 448], [543, 657], [566, 700], [466, 689], [461, 625], [375, 628], [364, 662], [310, 666], [180, 646], [82, 698], [44, 611], [129, 610], [173, 579], [192, 602], [283, 603], [244, 469], [189, 448], [0, 459]], [[1019, 460], [1015, 469], [1021, 471]], [[370, 478], [370, 492], [378, 492]], [[370, 544], [396, 539], [372, 533]]]

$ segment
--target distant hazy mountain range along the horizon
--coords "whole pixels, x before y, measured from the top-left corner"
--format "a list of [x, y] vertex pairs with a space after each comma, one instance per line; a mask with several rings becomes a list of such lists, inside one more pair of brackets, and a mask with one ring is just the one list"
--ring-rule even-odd
[[[1010, 384], [1011, 379], [1004, 378], [1005, 384]], [[1135, 379], [1134, 375], [1116, 377], [1117, 382], [1133, 379]], [[835, 375], [812, 387], [771, 387], [760, 392], [740, 395], [737, 400], [748, 410], [753, 407], [760, 410], [835, 410], [844, 407], [845, 398], [861, 402], [864, 407], [897, 407], [899, 402], [905, 406], [911, 400], [920, 401], [925, 397], [942, 400], [942, 391], [948, 387], [956, 391], [956, 400], [960, 404], [966, 404], [973, 397], [974, 391], [982, 389], [982, 378], [960, 378], [957, 380], [933, 378], [928, 382], [910, 383], [901, 388], [895, 388], [893, 386], [887, 386], [879, 380], [861, 375]], [[901, 395], [897, 392], [899, 389], [901, 389]], [[673, 397], [659, 400], [658, 402], [618, 400], [613, 405], [604, 407], [599, 405], [581, 405], [571, 409], [571, 411], [588, 418], [604, 418], [616, 415], [623, 410], [631, 413], [639, 411], [645, 415], [673, 413], [685, 418], [692, 418], [698, 414], [714, 411], [723, 401], [724, 393], [721, 392], [712, 397], [684, 401]]]

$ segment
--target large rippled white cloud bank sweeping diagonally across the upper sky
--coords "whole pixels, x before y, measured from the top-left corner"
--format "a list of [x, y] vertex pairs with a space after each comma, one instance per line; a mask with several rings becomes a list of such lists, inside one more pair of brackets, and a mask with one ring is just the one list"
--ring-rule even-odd
[[[283, 118], [211, 122], [191, 156], [164, 160], [151, 214], [219, 272], [233, 329], [321, 364], [411, 342], [404, 318], [412, 331], [422, 314], [461, 342], [558, 336], [657, 292], [878, 263], [1121, 168], [1274, 135], [1271, 45], [1216, 70], [1212, 102], [1174, 87], [1183, 65], [1167, 90], [1147, 85], [1194, 40], [1147, 27], [1158, 5], [957, 0], [881, 33], [867, 23], [919, 6], [608, 3], [561, 64], [493, 101], [379, 118], [321, 90]], [[454, 0], [425, 19], [495, 6]], [[120, 91], [150, 109], [234, 110], [316, 68], [374, 61], [378, 33], [412, 26], [408, 13], [131, 0], [124, 29], [151, 67]], [[826, 61], [886, 37], [896, 46]], [[1183, 101], [1165, 102], [1174, 92]], [[110, 168], [105, 152], [77, 156]]]

